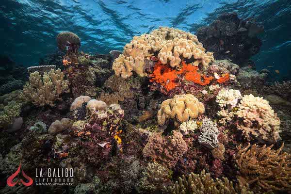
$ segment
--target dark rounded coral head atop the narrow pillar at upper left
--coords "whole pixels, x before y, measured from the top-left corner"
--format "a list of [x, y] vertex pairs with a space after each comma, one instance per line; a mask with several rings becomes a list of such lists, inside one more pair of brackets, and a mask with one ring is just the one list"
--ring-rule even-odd
[[61, 32], [57, 36], [58, 47], [61, 50], [65, 50], [67, 44], [74, 45], [77, 48], [81, 47], [81, 39], [73, 32]]

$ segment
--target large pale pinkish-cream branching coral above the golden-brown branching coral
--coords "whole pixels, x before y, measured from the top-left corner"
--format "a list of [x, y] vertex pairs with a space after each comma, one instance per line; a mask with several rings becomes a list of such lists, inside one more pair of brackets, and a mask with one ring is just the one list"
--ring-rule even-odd
[[267, 100], [252, 94], [245, 95], [238, 108], [236, 115], [243, 119], [243, 123], [237, 127], [246, 138], [255, 137], [271, 142], [280, 139], [280, 119]]

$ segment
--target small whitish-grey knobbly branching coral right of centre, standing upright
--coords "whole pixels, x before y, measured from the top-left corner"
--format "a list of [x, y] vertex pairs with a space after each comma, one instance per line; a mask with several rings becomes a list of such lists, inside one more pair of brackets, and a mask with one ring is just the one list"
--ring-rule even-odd
[[205, 118], [202, 120], [201, 135], [198, 137], [198, 142], [209, 149], [218, 147], [219, 133], [220, 132], [217, 129], [216, 124], [213, 123], [211, 119]]

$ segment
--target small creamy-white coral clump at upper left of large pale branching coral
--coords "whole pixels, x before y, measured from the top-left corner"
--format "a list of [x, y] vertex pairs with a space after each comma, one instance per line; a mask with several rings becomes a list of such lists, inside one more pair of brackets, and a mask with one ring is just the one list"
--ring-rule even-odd
[[221, 108], [227, 107], [228, 109], [234, 108], [238, 99], [241, 99], [242, 95], [239, 90], [230, 89], [227, 90], [225, 88], [221, 89], [216, 96], [216, 102], [219, 104]]

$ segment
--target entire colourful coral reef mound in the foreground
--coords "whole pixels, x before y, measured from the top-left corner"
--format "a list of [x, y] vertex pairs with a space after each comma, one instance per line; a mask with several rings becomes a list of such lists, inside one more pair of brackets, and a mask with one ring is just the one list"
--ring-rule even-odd
[[66, 169], [75, 194], [290, 193], [291, 155], [267, 100], [289, 99], [290, 82], [252, 88], [263, 73], [215, 60], [196, 35], [168, 27], [109, 56], [79, 52], [72, 32], [57, 44], [63, 66], [28, 68], [23, 90], [1, 100], [2, 177], [21, 162], [37, 182]]

